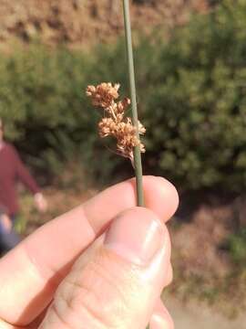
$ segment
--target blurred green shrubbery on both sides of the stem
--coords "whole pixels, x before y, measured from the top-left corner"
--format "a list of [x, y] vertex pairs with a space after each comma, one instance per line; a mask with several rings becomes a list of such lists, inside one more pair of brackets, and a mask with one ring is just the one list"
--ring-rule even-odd
[[[146, 173], [182, 189], [246, 186], [246, 3], [226, 0], [169, 37], [138, 38], [138, 106], [148, 128]], [[0, 115], [27, 161], [50, 176], [79, 158], [97, 179], [130, 170], [104, 149], [87, 84], [127, 91], [124, 42], [86, 51], [33, 45], [0, 57]], [[124, 166], [124, 168], [122, 167]]]

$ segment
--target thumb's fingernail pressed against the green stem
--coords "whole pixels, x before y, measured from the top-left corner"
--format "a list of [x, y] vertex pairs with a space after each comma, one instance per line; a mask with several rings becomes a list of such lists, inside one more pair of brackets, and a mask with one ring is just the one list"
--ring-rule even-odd
[[138, 264], [148, 264], [165, 239], [159, 218], [147, 209], [136, 207], [113, 220], [105, 246], [122, 258]]

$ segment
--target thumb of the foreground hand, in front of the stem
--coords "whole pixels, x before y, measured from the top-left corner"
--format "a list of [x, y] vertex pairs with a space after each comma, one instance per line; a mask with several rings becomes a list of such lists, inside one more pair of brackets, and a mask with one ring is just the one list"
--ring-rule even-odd
[[169, 268], [169, 234], [149, 209], [115, 218], [56, 291], [41, 329], [144, 329]]

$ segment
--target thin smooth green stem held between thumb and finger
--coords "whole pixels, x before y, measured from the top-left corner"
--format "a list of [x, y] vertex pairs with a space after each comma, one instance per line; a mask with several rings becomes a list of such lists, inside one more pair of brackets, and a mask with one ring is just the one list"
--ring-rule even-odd
[[[124, 5], [125, 34], [126, 34], [126, 43], [127, 43], [127, 51], [128, 51], [128, 74], [129, 74], [130, 94], [131, 94], [131, 102], [132, 102], [132, 121], [134, 126], [137, 128], [137, 137], [139, 139], [138, 106], [137, 106], [137, 97], [136, 97], [136, 84], [135, 84], [135, 74], [134, 74], [134, 60], [133, 60], [133, 51], [132, 51], [130, 13], [129, 13], [128, 0], [123, 0], [123, 5]], [[139, 146], [135, 147], [134, 149], [134, 166], [135, 166], [135, 175], [137, 181], [138, 206], [144, 207], [142, 162], [141, 162], [141, 153]]]

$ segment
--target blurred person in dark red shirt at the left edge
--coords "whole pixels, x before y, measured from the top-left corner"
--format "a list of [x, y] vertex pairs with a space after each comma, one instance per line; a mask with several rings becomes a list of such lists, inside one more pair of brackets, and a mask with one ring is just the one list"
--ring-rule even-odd
[[20, 181], [34, 196], [38, 211], [46, 212], [46, 198], [36, 180], [21, 161], [15, 147], [4, 140], [4, 123], [0, 118], [0, 244], [4, 251], [19, 242], [13, 224], [19, 212], [16, 183]]

